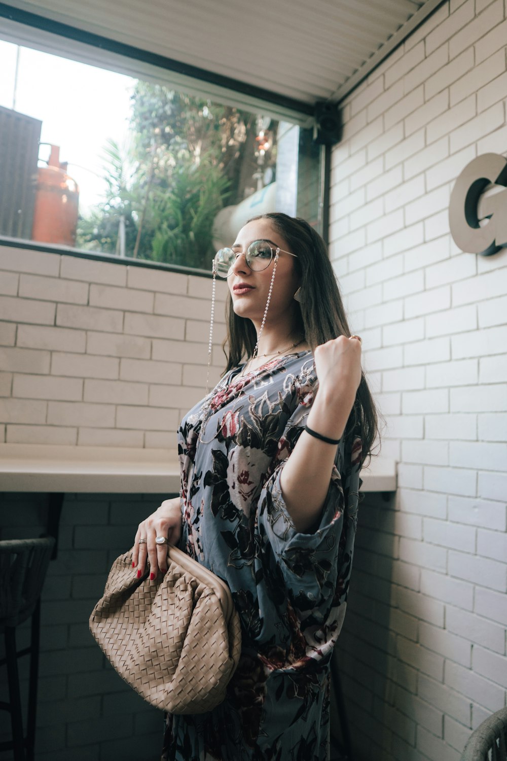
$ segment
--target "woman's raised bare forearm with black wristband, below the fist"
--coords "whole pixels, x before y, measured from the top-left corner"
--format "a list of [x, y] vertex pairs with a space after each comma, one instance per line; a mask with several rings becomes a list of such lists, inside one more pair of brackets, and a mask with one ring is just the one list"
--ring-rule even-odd
[[[306, 420], [312, 430], [340, 439], [355, 399], [355, 390], [320, 388]], [[327, 444], [306, 431], [299, 436], [284, 465], [280, 486], [290, 517], [298, 531], [307, 531], [321, 514], [328, 493], [336, 444]]]

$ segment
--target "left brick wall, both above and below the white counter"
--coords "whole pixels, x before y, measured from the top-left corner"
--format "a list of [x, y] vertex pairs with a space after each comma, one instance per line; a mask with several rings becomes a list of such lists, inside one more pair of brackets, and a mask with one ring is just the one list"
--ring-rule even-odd
[[[213, 383], [224, 365], [226, 289], [217, 282]], [[0, 441], [176, 447], [182, 415], [204, 396], [210, 314], [208, 278], [0, 247]], [[37, 761], [160, 758], [163, 713], [109, 667], [88, 617], [112, 561], [168, 496], [65, 495], [43, 589]], [[0, 538], [40, 536], [47, 510], [48, 495], [0, 494]], [[0, 740], [10, 736], [0, 712]]]

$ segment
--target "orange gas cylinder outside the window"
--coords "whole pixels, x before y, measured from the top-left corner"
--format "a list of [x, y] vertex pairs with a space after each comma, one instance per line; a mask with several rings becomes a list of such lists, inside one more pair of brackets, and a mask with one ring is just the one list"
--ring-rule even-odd
[[47, 167], [37, 176], [32, 240], [74, 246], [78, 227], [78, 185], [60, 163], [60, 148], [51, 146]]

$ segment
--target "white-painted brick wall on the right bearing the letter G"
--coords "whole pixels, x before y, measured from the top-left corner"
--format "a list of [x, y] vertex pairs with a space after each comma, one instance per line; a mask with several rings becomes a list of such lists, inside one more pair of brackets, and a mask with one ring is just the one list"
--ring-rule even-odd
[[505, 705], [507, 251], [461, 253], [447, 211], [507, 155], [505, 16], [445, 2], [342, 104], [331, 258], [400, 460], [361, 506], [338, 643], [360, 761], [458, 761]]

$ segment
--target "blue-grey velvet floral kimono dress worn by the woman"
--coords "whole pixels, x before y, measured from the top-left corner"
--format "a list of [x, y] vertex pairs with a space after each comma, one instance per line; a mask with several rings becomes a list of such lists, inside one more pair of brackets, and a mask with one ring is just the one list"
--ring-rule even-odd
[[[225, 701], [168, 715], [166, 761], [325, 761], [330, 659], [347, 600], [361, 438], [337, 445], [322, 514], [296, 531], [280, 475], [306, 425], [310, 351], [228, 372], [179, 428], [182, 548], [227, 581], [242, 656]], [[204, 424], [203, 424], [204, 423]]]

